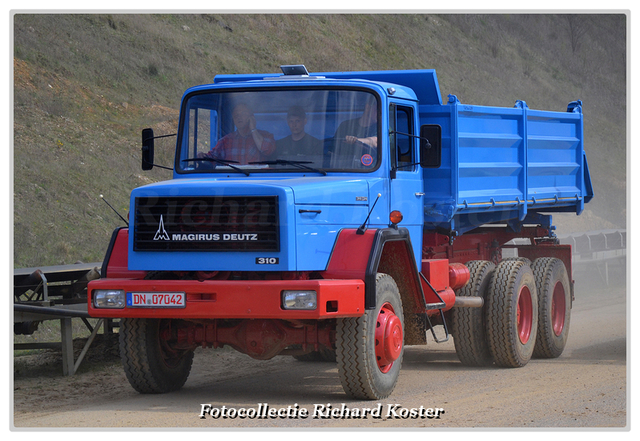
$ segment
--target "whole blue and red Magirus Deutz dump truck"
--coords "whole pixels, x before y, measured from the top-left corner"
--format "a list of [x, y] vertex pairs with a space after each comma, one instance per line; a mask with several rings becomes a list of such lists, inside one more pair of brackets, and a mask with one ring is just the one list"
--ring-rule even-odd
[[131, 193], [89, 312], [120, 319], [140, 393], [181, 388], [197, 347], [336, 361], [357, 399], [391, 394], [427, 338], [521, 367], [565, 347], [550, 213], [592, 196], [580, 101], [443, 103], [433, 70], [219, 75], [185, 92], [173, 179]]

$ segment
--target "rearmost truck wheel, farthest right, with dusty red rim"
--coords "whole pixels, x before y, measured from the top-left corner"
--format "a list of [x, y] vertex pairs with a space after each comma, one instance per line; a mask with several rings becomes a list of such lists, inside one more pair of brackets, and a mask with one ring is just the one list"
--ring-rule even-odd
[[571, 285], [564, 263], [553, 257], [536, 259], [531, 267], [538, 290], [538, 337], [533, 356], [557, 358], [569, 336]]

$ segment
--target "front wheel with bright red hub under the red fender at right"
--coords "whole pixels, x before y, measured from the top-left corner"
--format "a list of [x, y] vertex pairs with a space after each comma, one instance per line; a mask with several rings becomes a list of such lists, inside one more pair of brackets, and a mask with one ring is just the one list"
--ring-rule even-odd
[[[404, 316], [398, 286], [387, 274], [376, 276], [376, 307], [357, 318], [339, 319], [336, 356], [340, 382], [347, 395], [361, 400], [388, 397], [398, 382], [404, 355]], [[382, 325], [381, 325], [382, 324]], [[376, 338], [384, 329], [391, 336]], [[376, 353], [389, 343], [393, 356], [387, 360]], [[384, 351], [383, 351], [384, 352]], [[391, 360], [393, 357], [397, 357]]]

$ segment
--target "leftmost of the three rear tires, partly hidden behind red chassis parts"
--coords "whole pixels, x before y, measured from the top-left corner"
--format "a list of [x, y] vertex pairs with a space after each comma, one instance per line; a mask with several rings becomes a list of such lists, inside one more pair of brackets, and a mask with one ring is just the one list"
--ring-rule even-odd
[[486, 260], [474, 260], [466, 263], [470, 278], [466, 286], [456, 292], [461, 297], [482, 297], [482, 308], [453, 308], [452, 334], [456, 354], [465, 366], [488, 366], [493, 357], [487, 344], [485, 314], [487, 290], [495, 265]]

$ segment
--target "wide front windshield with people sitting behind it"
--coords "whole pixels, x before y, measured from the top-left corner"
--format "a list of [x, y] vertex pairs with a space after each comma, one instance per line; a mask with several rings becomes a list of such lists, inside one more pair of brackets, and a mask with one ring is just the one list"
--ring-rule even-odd
[[176, 170], [372, 171], [380, 157], [379, 107], [362, 90], [194, 93], [183, 107]]

